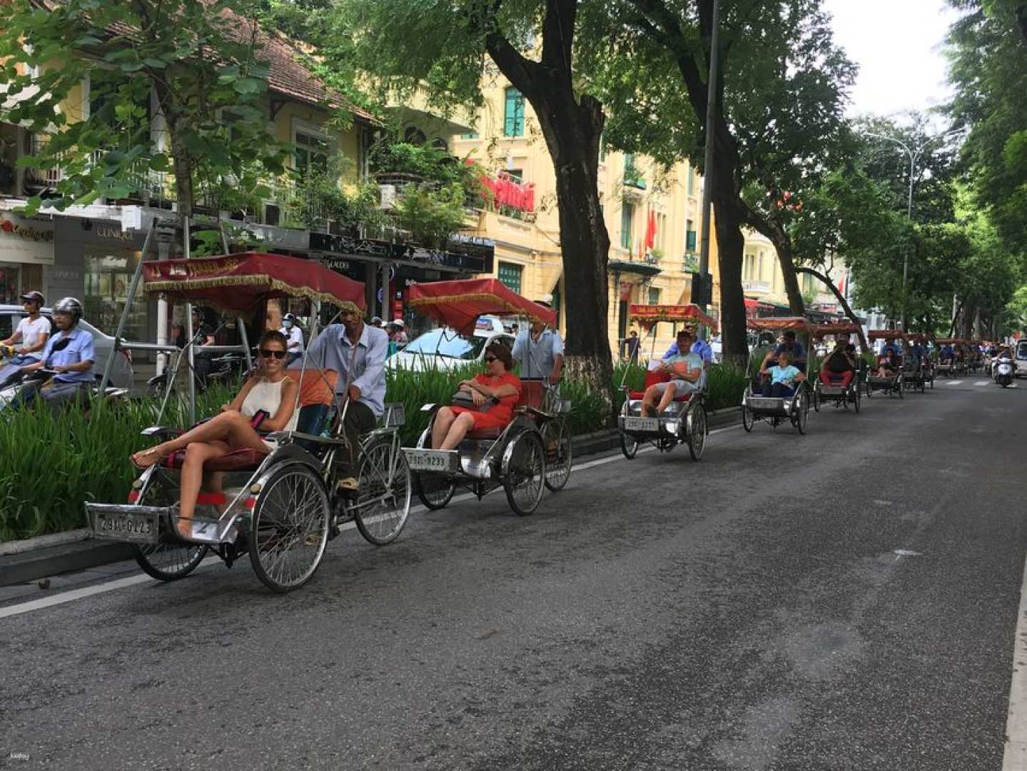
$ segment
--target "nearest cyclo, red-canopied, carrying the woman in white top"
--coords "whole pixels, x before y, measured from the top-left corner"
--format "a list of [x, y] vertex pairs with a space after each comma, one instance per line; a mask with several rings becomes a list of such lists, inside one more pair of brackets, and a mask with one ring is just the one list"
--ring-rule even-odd
[[[320, 304], [365, 307], [363, 283], [278, 255], [147, 262], [141, 270], [146, 291], [186, 302], [187, 317], [193, 301], [241, 315], [269, 299], [303, 298], [315, 309], [314, 337]], [[347, 496], [335, 484], [335, 458], [347, 445], [341, 426], [349, 403], [339, 402], [333, 417], [336, 373], [307, 370], [304, 360], [302, 369], [287, 374], [300, 384], [296, 430], [268, 434], [276, 445], [268, 454], [236, 450], [207, 461], [208, 489], [201, 489], [188, 538], [177, 529], [182, 451], [146, 468], [132, 483], [127, 504], [86, 503], [96, 537], [132, 543], [140, 567], [162, 581], [187, 576], [208, 550], [228, 567], [249, 553], [261, 581], [283, 592], [313, 576], [343, 522], [354, 519], [360, 534], [378, 545], [398, 536], [411, 499], [397, 430], [402, 406], [386, 406], [384, 425], [362, 437], [355, 454], [359, 492]], [[183, 432], [153, 426], [143, 434], [166, 438]]]

